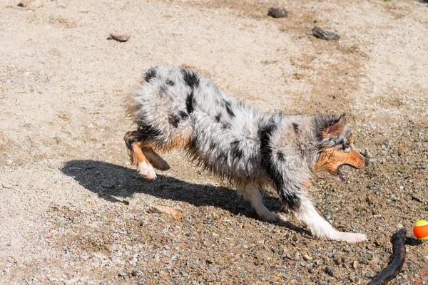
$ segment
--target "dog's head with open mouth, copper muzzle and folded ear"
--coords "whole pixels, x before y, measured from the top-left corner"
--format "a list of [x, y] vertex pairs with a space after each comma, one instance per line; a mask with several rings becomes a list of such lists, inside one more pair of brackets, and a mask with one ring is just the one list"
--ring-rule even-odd
[[345, 182], [340, 172], [342, 165], [361, 169], [367, 166], [367, 159], [354, 148], [351, 130], [346, 127], [346, 115], [315, 117], [317, 161], [314, 170], [325, 170], [337, 182]]

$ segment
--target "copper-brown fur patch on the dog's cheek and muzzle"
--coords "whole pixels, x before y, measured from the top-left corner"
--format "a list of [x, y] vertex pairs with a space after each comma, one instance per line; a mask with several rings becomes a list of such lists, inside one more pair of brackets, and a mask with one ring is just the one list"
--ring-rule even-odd
[[340, 165], [351, 165], [355, 168], [365, 167], [364, 157], [360, 155], [357, 150], [352, 152], [344, 152], [342, 150], [336, 150], [335, 147], [328, 147], [322, 150], [320, 157], [315, 164], [314, 170], [327, 170], [331, 175], [336, 175], [337, 168]]

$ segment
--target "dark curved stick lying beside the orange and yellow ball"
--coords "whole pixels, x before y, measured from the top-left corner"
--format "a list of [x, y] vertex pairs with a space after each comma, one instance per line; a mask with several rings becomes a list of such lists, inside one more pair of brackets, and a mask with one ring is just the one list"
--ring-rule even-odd
[[406, 239], [406, 229], [399, 229], [399, 231], [392, 236], [391, 243], [394, 255], [391, 263], [387, 268], [380, 271], [379, 274], [377, 274], [377, 276], [374, 277], [374, 279], [367, 285], [387, 284], [397, 276], [398, 272], [402, 269], [404, 259], [406, 259], [404, 239]]

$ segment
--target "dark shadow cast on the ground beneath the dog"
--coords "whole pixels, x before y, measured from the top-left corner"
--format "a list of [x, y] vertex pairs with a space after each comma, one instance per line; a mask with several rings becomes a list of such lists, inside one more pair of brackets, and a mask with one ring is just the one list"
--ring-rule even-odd
[[[158, 175], [156, 180], [145, 180], [136, 170], [96, 160], [68, 161], [61, 168], [61, 172], [73, 177], [87, 190], [109, 202], [128, 204], [123, 199], [133, 197], [134, 193], [145, 193], [162, 199], [188, 202], [195, 206], [220, 207], [233, 214], [258, 219], [249, 202], [238, 196], [234, 190], [225, 187], [194, 184], [165, 175]], [[263, 202], [270, 209], [281, 207], [279, 200], [270, 195], [266, 195]], [[305, 229], [289, 222], [281, 225], [308, 234]]]

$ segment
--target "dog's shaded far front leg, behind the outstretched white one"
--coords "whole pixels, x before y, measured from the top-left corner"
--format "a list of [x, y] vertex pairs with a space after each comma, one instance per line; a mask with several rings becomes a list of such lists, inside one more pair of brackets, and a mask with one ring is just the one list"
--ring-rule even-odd
[[250, 182], [245, 185], [244, 197], [247, 199], [251, 206], [255, 209], [255, 212], [265, 221], [273, 222], [285, 222], [285, 218], [280, 214], [270, 212], [263, 204], [263, 197], [260, 193], [258, 185], [254, 182]]

